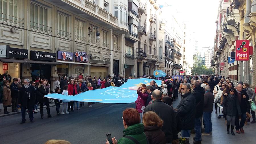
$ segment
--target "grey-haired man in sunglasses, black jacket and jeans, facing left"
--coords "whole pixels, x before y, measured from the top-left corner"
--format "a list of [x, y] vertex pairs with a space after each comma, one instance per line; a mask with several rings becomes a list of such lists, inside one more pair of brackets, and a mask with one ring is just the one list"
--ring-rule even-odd
[[177, 112], [182, 121], [181, 136], [190, 137], [190, 131], [195, 127], [196, 100], [193, 94], [191, 94], [189, 84], [182, 84], [181, 97], [182, 99], [177, 106]]

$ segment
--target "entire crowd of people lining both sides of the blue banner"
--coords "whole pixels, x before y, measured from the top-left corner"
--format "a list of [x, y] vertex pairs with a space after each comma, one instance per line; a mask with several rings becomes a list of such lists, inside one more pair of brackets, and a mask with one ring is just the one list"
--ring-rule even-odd
[[[251, 123], [255, 123], [255, 112], [251, 110], [249, 101], [255, 104], [255, 92], [248, 83], [238, 82], [236, 87], [230, 79], [224, 76], [185, 76], [183, 79], [172, 79], [172, 76], [155, 78], [154, 76], [138, 77], [152, 79], [150, 85], [141, 84], [137, 89], [138, 98], [135, 108], [127, 108], [123, 111], [123, 138], [113, 143], [172, 143], [178, 144], [178, 133], [181, 137], [190, 137], [194, 129], [194, 143], [201, 143], [202, 135], [212, 134], [211, 116], [214, 110], [217, 118], [225, 118], [227, 133], [235, 135], [244, 133], [245, 121], [250, 121], [247, 114], [252, 114]], [[0, 96], [3, 96], [4, 114], [9, 114], [7, 107], [12, 107], [12, 112], [22, 112], [22, 121], [26, 122], [26, 108], [30, 122], [34, 122], [33, 113], [40, 111], [44, 118], [43, 106], [46, 105], [47, 117], [52, 118], [49, 103], [52, 102], [45, 95], [59, 93], [63, 95], [77, 95], [81, 92], [106, 87], [119, 87], [133, 77], [121, 77], [110, 75], [101, 78], [83, 76], [82, 73], [76, 78], [63, 76], [58, 78], [50, 86], [47, 79], [36, 77], [35, 81], [24, 79], [21, 83], [19, 78], [14, 78], [13, 83], [8, 71], [0, 82]], [[154, 79], [161, 80], [158, 86]], [[188, 83], [190, 82], [190, 83]], [[1, 93], [2, 91], [2, 93]], [[181, 94], [181, 101], [176, 108], [172, 102]], [[84, 107], [84, 102], [68, 100], [54, 100], [57, 115], [69, 114], [75, 109]], [[61, 103], [62, 107], [61, 107]], [[215, 103], [215, 104], [214, 104]], [[38, 109], [38, 104], [40, 109]], [[92, 107], [88, 102], [88, 107]], [[241, 121], [239, 123], [239, 118]], [[202, 121], [205, 131], [201, 133]], [[230, 127], [231, 124], [231, 127]], [[106, 141], [109, 143], [109, 141]]]

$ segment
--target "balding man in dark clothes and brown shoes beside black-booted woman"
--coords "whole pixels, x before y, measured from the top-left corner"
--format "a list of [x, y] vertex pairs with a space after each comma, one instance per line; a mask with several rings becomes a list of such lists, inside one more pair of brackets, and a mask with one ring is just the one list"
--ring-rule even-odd
[[[249, 113], [250, 111], [250, 104], [248, 102], [249, 96], [245, 90], [242, 90], [242, 84], [238, 84], [235, 91], [236, 96], [238, 97], [238, 101], [241, 108], [241, 122], [239, 124], [239, 117], [238, 114], [236, 116], [236, 133], [244, 133], [243, 126], [246, 121], [246, 112]], [[240, 131], [239, 131], [240, 130]]]

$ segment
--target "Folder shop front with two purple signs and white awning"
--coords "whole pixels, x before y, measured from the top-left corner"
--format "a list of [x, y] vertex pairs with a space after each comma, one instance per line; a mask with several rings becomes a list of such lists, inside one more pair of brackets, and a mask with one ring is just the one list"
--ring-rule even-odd
[[59, 79], [63, 76], [78, 77], [80, 73], [88, 75], [89, 57], [86, 52], [57, 52], [57, 62], [62, 65], [57, 65], [57, 73]]

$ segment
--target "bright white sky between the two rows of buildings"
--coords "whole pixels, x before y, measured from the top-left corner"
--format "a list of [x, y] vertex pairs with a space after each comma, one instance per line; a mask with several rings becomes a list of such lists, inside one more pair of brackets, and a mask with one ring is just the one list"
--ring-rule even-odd
[[198, 48], [214, 46], [219, 0], [159, 0], [176, 7], [187, 28], [196, 33]]

